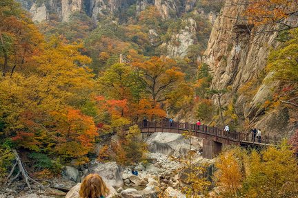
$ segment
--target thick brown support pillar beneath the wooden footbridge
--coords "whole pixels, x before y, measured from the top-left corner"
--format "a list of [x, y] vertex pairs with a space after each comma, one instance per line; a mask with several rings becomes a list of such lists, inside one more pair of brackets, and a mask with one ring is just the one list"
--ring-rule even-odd
[[221, 152], [222, 144], [214, 140], [203, 139], [203, 154], [202, 156], [207, 159], [216, 157]]

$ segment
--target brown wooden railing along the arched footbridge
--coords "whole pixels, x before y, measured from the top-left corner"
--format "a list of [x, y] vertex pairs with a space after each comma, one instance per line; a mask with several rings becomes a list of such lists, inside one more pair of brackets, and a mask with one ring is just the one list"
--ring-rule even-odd
[[[219, 129], [214, 126], [207, 126], [207, 125], [200, 125], [197, 126], [197, 124], [192, 124], [188, 122], [169, 122], [169, 121], [157, 121], [157, 122], [138, 122], [135, 123], [137, 126], [139, 126], [140, 129], [152, 129], [155, 128], [154, 131], [162, 130], [163, 129], [177, 129], [177, 130], [185, 130], [185, 131], [192, 131], [192, 132], [197, 132], [197, 133], [205, 133], [208, 135], [213, 135], [217, 137], [222, 137], [224, 139], [228, 140], [233, 140], [238, 141], [238, 142], [255, 142], [258, 143], [257, 137], [252, 138], [251, 134], [252, 133], [237, 133], [237, 132], [229, 132], [227, 133], [223, 129]], [[124, 130], [128, 131], [130, 126], [135, 125], [135, 124], [126, 124], [123, 126], [117, 127], [115, 130]], [[276, 137], [272, 137], [269, 135], [261, 135], [261, 143], [266, 143], [266, 144], [277, 144], [277, 139]]]

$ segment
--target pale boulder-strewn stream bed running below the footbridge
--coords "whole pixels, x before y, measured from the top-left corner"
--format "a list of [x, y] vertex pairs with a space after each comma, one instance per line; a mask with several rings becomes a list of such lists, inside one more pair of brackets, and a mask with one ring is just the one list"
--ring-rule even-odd
[[[2, 186], [0, 198], [79, 198], [80, 182], [90, 173], [98, 173], [103, 177], [110, 188], [108, 197], [157, 197], [158, 192], [166, 192], [169, 197], [186, 197], [180, 191], [183, 174], [177, 171], [183, 165], [175, 159], [188, 153], [190, 148], [188, 140], [179, 134], [154, 133], [146, 137], [146, 142], [150, 151], [147, 153], [146, 163], [121, 167], [116, 162], [101, 163], [94, 159], [85, 166], [65, 166], [61, 177], [42, 181], [45, 189], [32, 185], [31, 194], [26, 184], [21, 181], [14, 182], [10, 188]], [[196, 163], [212, 164], [212, 160], [201, 157], [201, 144], [201, 140], [192, 138], [191, 149], [197, 153]], [[138, 170], [139, 175], [132, 175], [132, 169]]]

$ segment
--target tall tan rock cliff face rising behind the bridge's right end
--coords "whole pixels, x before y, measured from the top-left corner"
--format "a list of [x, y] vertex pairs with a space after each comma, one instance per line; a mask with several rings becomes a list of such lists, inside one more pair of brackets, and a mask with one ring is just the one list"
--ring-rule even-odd
[[[223, 102], [226, 105], [233, 103], [235, 111], [243, 121], [248, 122], [248, 126], [286, 135], [284, 133], [292, 129], [288, 122], [290, 110], [284, 107], [267, 111], [265, 115], [264, 107], [264, 102], [278, 86], [278, 82], [268, 83], [266, 79], [272, 74], [264, 72], [270, 49], [279, 45], [278, 33], [261, 32], [260, 28], [248, 24], [243, 14], [245, 3], [238, 0], [229, 3], [232, 6], [224, 6], [213, 25], [203, 57], [203, 62], [210, 66], [212, 72], [211, 87], [230, 89], [223, 96]], [[297, 23], [297, 18], [290, 20]], [[241, 87], [245, 85], [255, 86], [256, 91], [242, 93]], [[216, 98], [213, 99], [217, 103]]]

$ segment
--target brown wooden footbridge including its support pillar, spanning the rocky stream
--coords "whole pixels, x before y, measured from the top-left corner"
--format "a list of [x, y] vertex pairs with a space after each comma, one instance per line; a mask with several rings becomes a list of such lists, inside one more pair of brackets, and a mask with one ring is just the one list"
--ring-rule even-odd
[[[187, 122], [138, 122], [136, 123], [141, 129], [141, 133], [179, 133], [183, 134], [189, 131], [190, 135], [203, 138], [203, 157], [212, 158], [221, 152], [223, 145], [235, 145], [245, 147], [259, 147], [259, 146], [273, 146], [277, 144], [275, 137], [268, 135], [261, 135], [261, 142], [252, 138], [252, 133], [238, 133], [238, 132], [226, 132], [223, 129], [219, 129], [215, 126], [207, 126], [197, 124], [190, 124]], [[128, 131], [130, 126], [135, 124], [126, 124], [113, 131]]]

